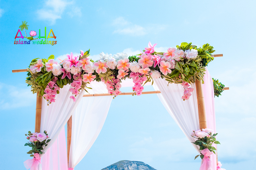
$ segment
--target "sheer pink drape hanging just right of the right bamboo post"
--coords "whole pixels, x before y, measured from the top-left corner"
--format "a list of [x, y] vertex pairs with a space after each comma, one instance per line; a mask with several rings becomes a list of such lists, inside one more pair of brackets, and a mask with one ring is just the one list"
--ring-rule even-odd
[[[203, 98], [204, 98], [204, 104], [206, 109], [207, 128], [213, 129], [214, 133], [216, 133], [214, 87], [213, 87], [212, 78], [207, 68], [204, 74], [204, 84], [202, 84], [202, 89], [203, 89]], [[212, 146], [216, 148], [216, 144], [213, 144]], [[212, 162], [212, 168], [214, 170], [217, 169], [217, 156], [215, 154], [212, 154], [210, 160]]]

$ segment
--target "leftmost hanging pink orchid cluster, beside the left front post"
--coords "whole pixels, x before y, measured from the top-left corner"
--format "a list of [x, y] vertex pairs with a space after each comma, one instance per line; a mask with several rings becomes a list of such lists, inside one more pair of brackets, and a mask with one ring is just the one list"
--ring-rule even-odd
[[[48, 83], [45, 89], [45, 94], [43, 97], [51, 104], [52, 102], [55, 102], [55, 95], [57, 94], [57, 90], [59, 90], [58, 85], [56, 84], [57, 77], [54, 77], [52, 81]], [[48, 105], [49, 105], [48, 103]]]

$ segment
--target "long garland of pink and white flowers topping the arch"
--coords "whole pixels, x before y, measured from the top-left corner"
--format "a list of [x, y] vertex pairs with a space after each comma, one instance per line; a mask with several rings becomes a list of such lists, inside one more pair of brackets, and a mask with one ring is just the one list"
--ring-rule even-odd
[[[143, 83], [154, 83], [152, 78], [165, 78], [168, 83], [182, 84], [184, 87], [183, 100], [189, 99], [193, 88], [189, 88], [198, 79], [203, 82], [205, 66], [214, 58], [211, 57], [213, 47], [204, 44], [197, 48], [192, 43], [181, 43], [177, 48], [168, 48], [166, 52], [156, 52], [157, 44], [148, 43], [141, 54], [129, 56], [126, 53], [100, 53], [100, 58], [93, 61], [89, 58], [90, 49], [74, 56], [71, 52], [67, 58], [58, 63], [54, 55], [48, 59], [33, 59], [28, 68], [26, 83], [31, 86], [33, 93], [43, 96], [48, 104], [55, 102], [55, 95], [66, 84], [71, 84], [74, 101], [76, 96], [87, 87], [91, 81], [103, 81], [108, 93], [118, 96], [121, 82], [132, 78], [133, 95], [141, 95]], [[87, 90], [86, 90], [87, 91]]]

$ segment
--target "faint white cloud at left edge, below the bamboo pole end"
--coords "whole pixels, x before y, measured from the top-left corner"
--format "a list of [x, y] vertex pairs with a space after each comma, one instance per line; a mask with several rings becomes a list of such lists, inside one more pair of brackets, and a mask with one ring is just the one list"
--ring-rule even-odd
[[31, 106], [36, 99], [36, 94], [30, 88], [20, 88], [0, 82], [0, 109], [9, 110], [18, 107]]

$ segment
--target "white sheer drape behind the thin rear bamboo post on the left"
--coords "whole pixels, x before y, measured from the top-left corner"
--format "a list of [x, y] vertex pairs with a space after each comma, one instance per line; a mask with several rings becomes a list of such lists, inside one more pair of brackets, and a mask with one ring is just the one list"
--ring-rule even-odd
[[[93, 81], [90, 94], [107, 93], [103, 82]], [[87, 154], [106, 120], [113, 96], [84, 97], [72, 114], [69, 168], [74, 168]]]

